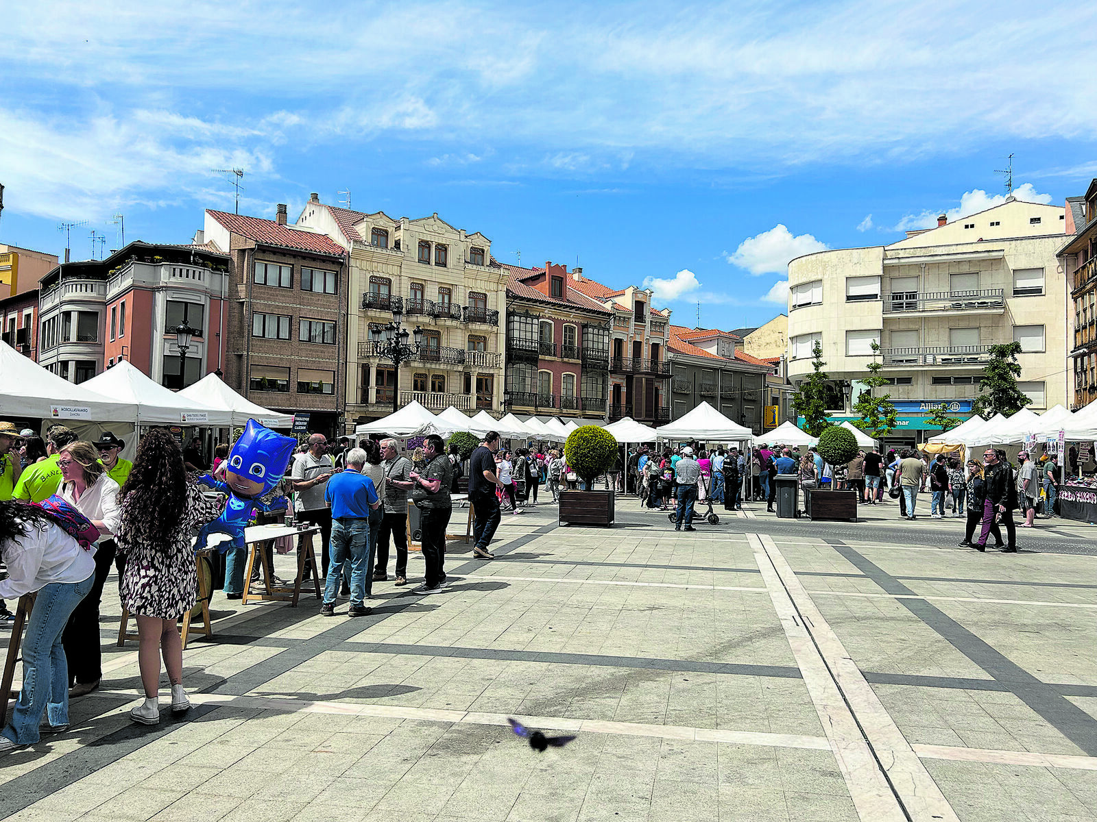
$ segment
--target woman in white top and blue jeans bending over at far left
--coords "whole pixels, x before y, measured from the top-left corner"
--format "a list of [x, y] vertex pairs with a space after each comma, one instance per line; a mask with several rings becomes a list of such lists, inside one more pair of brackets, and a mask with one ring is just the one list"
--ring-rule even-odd
[[12, 501], [0, 502], [0, 559], [8, 567], [0, 597], [18, 600], [37, 592], [23, 637], [23, 687], [11, 722], [0, 731], [0, 753], [7, 753], [33, 745], [43, 731], [68, 728], [61, 631], [91, 590], [95, 561], [42, 509]]

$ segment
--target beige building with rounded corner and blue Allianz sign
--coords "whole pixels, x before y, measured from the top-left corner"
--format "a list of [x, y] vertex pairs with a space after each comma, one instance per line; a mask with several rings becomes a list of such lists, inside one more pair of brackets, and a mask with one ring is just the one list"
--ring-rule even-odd
[[1041, 411], [1066, 397], [1066, 281], [1055, 252], [1064, 208], [1008, 199], [980, 214], [909, 231], [891, 246], [822, 251], [789, 263], [789, 377], [812, 370], [815, 341], [841, 420], [868, 374], [872, 343], [900, 408], [893, 439], [916, 442], [948, 403], [970, 415], [987, 349], [1019, 342], [1020, 389]]

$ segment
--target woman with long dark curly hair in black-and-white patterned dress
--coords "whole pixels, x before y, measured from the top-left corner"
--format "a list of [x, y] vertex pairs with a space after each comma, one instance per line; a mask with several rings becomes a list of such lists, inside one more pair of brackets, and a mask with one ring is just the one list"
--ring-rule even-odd
[[129, 716], [135, 722], [156, 724], [161, 654], [171, 681], [172, 713], [191, 707], [183, 690], [178, 621], [197, 598], [192, 533], [215, 520], [220, 506], [188, 480], [182, 450], [167, 429], [152, 429], [142, 437], [118, 505], [116, 541], [126, 555], [122, 604], [137, 617], [137, 664], [145, 686], [144, 705]]

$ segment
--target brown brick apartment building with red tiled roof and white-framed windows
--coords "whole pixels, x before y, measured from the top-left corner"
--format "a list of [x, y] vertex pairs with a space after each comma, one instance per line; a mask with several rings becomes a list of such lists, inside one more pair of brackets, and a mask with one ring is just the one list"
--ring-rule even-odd
[[195, 242], [229, 258], [228, 386], [264, 408], [307, 413], [309, 431], [342, 434], [347, 252], [287, 225], [284, 205], [273, 220], [207, 209]]

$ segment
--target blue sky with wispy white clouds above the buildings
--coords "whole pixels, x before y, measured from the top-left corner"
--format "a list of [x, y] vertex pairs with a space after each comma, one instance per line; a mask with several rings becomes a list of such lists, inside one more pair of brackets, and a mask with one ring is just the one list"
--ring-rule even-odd
[[[502, 262], [647, 283], [674, 319], [782, 310], [789, 259], [1097, 175], [1097, 7], [1058, 2], [20, 3], [0, 241], [183, 242], [309, 192], [438, 212]], [[163, 4], [166, 5], [166, 4]], [[951, 7], [951, 8], [950, 8]]]

